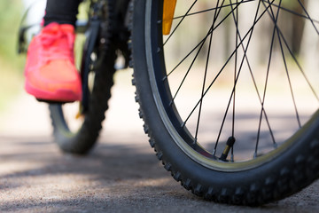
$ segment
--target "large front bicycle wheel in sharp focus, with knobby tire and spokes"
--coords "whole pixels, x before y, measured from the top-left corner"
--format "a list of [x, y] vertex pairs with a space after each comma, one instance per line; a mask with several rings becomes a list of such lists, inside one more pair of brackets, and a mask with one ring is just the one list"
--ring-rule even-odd
[[163, 2], [175, 1], [134, 1], [132, 41], [136, 100], [165, 169], [192, 193], [233, 204], [312, 183], [316, 2], [179, 1], [173, 19]]

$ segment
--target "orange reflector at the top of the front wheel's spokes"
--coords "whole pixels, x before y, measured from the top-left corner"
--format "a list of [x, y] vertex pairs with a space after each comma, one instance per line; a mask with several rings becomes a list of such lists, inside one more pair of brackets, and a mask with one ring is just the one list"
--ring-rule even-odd
[[168, 35], [172, 28], [172, 22], [177, 0], [164, 0], [163, 7], [163, 35]]

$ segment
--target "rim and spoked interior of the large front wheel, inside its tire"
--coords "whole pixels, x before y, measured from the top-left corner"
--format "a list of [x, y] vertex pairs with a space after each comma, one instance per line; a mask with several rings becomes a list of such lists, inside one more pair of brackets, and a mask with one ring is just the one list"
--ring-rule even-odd
[[[177, 3], [171, 34], [164, 37], [160, 25], [161, 3], [155, 4], [146, 3], [145, 19], [146, 55], [152, 56], [147, 57], [152, 92], [169, 134], [194, 161], [214, 170], [257, 167], [303, 138], [319, 119], [319, 88], [314, 81], [318, 79], [315, 78], [318, 68], [314, 67], [318, 51], [306, 59], [309, 58], [307, 36], [319, 40], [319, 19], [313, 18], [319, 12], [307, 10], [310, 1], [307, 5], [299, 0], [294, 4], [280, 0], [220, 0], [202, 2], [199, 6], [199, 1], [189, 5]], [[241, 15], [247, 11], [255, 12], [250, 17]], [[202, 16], [200, 21], [199, 16]], [[209, 24], [204, 21], [207, 17]], [[245, 19], [253, 20], [253, 24], [241, 25]], [[292, 38], [294, 42], [301, 39], [300, 45], [289, 42], [287, 37], [296, 29], [285, 29], [283, 19], [292, 19], [293, 24], [301, 21], [299, 28], [307, 36]], [[183, 28], [189, 29], [190, 23], [192, 28], [185, 33]], [[265, 23], [270, 26], [268, 35], [267, 31], [262, 34]], [[223, 24], [232, 27], [222, 28]], [[222, 41], [215, 38], [230, 34], [227, 30], [235, 32], [228, 40], [232, 43], [228, 47], [230, 51], [224, 59], [214, 59]], [[264, 44], [259, 42], [260, 36]], [[262, 44], [266, 47], [258, 53], [267, 57], [253, 57], [256, 52], [253, 47], [259, 45], [262, 50]], [[302, 52], [305, 50], [306, 53]], [[313, 61], [313, 67], [307, 60]], [[256, 70], [261, 70], [258, 75]], [[229, 74], [224, 75], [226, 72]], [[202, 75], [198, 83], [194, 79], [199, 74]], [[276, 78], [285, 83], [278, 83]], [[225, 110], [220, 112], [214, 105], [224, 106]], [[254, 135], [249, 129], [253, 126], [257, 126], [250, 128]], [[236, 138], [235, 146], [230, 148], [226, 161], [222, 161], [228, 138]], [[248, 147], [249, 144], [253, 145]]]

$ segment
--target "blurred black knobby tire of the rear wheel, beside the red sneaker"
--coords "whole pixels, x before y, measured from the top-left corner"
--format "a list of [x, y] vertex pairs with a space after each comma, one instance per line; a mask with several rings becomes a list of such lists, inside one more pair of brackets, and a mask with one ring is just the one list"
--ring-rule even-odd
[[[87, 154], [96, 144], [99, 131], [102, 129], [102, 122], [105, 119], [105, 111], [108, 108], [108, 100], [111, 98], [111, 88], [113, 86], [113, 74], [115, 72], [114, 63], [116, 59], [115, 47], [110, 43], [112, 36], [112, 25], [109, 21], [111, 11], [111, 1], [105, 1], [105, 17], [101, 23], [99, 36], [93, 52], [84, 52], [83, 57], [94, 58], [87, 66], [94, 67], [90, 72], [94, 72], [93, 89], [89, 92], [89, 104], [86, 112], [82, 114], [82, 121], [74, 129], [70, 128], [70, 122], [66, 118], [66, 107], [71, 104], [51, 104], [49, 106], [51, 121], [53, 126], [53, 136], [58, 146], [63, 152], [70, 154]], [[111, 8], [111, 9], [110, 9]], [[103, 39], [102, 39], [103, 38]], [[100, 43], [103, 41], [103, 43]], [[85, 50], [84, 50], [85, 51]], [[82, 103], [73, 103], [80, 105]], [[76, 111], [73, 112], [71, 120], [76, 120]]]

